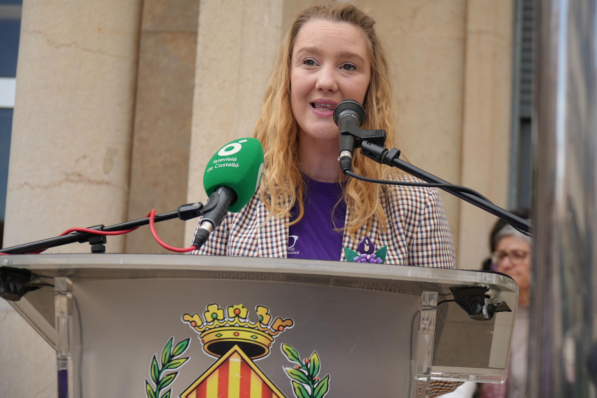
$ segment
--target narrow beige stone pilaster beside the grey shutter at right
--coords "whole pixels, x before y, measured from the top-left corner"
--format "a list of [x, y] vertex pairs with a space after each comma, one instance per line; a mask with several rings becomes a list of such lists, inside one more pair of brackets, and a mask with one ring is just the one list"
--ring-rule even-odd
[[[512, 0], [469, 1], [461, 154], [461, 185], [507, 207], [512, 107]], [[481, 268], [497, 218], [460, 201], [458, 265]]]

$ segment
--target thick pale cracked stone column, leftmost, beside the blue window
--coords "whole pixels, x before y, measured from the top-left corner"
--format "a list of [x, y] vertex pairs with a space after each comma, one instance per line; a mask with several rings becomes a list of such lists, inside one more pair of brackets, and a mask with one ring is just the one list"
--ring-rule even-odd
[[[125, 221], [140, 13], [141, 0], [24, 2], [4, 247]], [[56, 397], [53, 348], [7, 302], [0, 319], [0, 396]]]

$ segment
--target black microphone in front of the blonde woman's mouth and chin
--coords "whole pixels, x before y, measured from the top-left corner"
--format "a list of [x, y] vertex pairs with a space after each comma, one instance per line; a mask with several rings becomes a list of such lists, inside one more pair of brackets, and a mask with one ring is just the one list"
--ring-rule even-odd
[[340, 169], [352, 169], [352, 154], [355, 150], [355, 132], [365, 121], [365, 109], [355, 100], [343, 100], [334, 109], [334, 123], [338, 126]]

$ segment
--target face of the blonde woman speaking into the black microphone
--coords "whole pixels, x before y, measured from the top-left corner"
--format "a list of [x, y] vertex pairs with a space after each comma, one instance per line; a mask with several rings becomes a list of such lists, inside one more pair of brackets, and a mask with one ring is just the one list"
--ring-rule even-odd
[[346, 22], [313, 20], [299, 31], [290, 66], [290, 98], [299, 137], [337, 139], [332, 115], [345, 99], [363, 103], [371, 79], [365, 35]]

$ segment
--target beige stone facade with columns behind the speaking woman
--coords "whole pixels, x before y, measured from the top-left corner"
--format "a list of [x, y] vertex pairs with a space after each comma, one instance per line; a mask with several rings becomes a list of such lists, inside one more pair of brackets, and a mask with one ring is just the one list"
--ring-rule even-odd
[[[5, 246], [205, 200], [207, 159], [252, 134], [284, 26], [312, 3], [25, 1]], [[512, 1], [361, 3], [392, 54], [401, 149], [421, 169], [505, 207]], [[450, 195], [442, 200], [458, 267], [479, 268], [495, 218]], [[188, 246], [194, 227], [169, 221], [157, 229], [167, 243]], [[147, 228], [109, 238], [107, 250], [165, 252]], [[24, 327], [19, 315], [0, 311], [2, 357], [26, 357], [23, 347], [40, 353], [38, 368], [23, 371], [39, 382], [33, 387], [8, 382], [12, 365], [0, 365], [0, 396], [55, 397], [47, 343], [15, 333]]]

